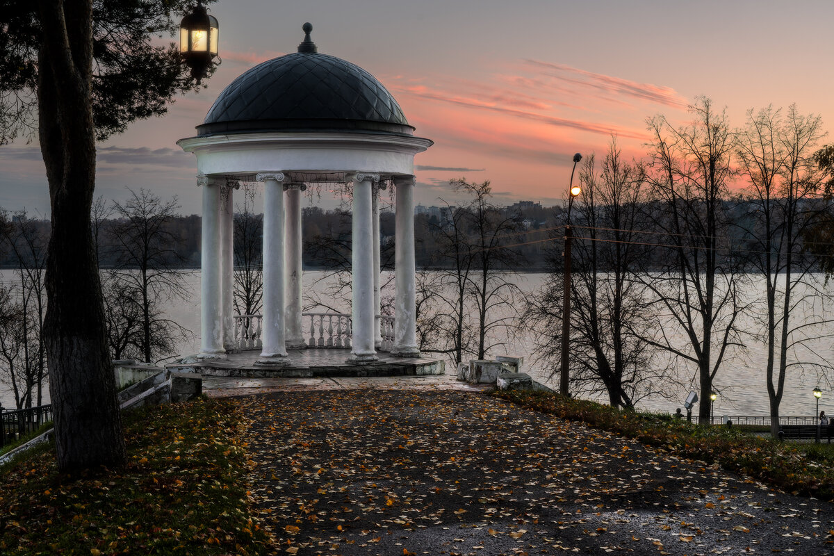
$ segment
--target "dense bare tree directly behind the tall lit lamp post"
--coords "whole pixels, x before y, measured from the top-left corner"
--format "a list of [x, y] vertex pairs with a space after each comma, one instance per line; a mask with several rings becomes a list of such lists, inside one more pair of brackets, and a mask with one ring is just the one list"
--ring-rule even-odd
[[[626, 163], [612, 141], [595, 168], [595, 156], [580, 168], [582, 193], [574, 226], [579, 231], [572, 250], [570, 338], [571, 382], [591, 395], [604, 394], [612, 407], [634, 408], [668, 381], [656, 365], [646, 337], [654, 320], [646, 309], [646, 288], [636, 278], [647, 269], [646, 172], [641, 163]], [[537, 336], [536, 354], [553, 373], [560, 363], [563, 280], [555, 268], [550, 283], [526, 303], [525, 318]], [[668, 386], [668, 383], [665, 384]]]

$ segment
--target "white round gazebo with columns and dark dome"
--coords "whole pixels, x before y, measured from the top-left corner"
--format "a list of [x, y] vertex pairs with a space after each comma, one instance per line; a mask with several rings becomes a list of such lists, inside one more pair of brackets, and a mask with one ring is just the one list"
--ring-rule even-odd
[[220, 93], [197, 135], [180, 139], [197, 156], [203, 190], [202, 358], [234, 344], [233, 190], [264, 184], [264, 365], [303, 348], [301, 192], [307, 183], [353, 184], [352, 353], [377, 360], [379, 188], [394, 184], [395, 293], [391, 353], [419, 357], [414, 298], [414, 155], [432, 145], [372, 75], [318, 52], [304, 24], [298, 52], [249, 69]]

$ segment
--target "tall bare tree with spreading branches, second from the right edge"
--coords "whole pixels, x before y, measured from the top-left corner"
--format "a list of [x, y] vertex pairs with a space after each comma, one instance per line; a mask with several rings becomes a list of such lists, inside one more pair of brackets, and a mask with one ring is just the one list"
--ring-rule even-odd
[[713, 379], [728, 350], [743, 347], [736, 321], [745, 278], [725, 204], [735, 137], [726, 111], [716, 112], [708, 98], [690, 110], [695, 121], [685, 127], [662, 116], [648, 122], [653, 216], [668, 256], [661, 272], [644, 275], [661, 317], [657, 336], [646, 342], [696, 367], [698, 415], [706, 423]]

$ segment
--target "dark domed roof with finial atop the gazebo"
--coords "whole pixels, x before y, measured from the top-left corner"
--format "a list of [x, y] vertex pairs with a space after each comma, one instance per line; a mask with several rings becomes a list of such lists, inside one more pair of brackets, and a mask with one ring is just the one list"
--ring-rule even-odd
[[374, 76], [319, 54], [308, 32], [299, 52], [260, 63], [214, 101], [198, 135], [339, 130], [411, 135], [403, 111]]

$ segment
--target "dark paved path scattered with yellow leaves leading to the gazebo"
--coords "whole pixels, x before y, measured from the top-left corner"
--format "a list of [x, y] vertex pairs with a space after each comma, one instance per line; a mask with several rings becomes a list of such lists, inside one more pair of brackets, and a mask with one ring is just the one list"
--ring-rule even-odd
[[244, 403], [278, 553], [834, 554], [831, 503], [486, 395]]

